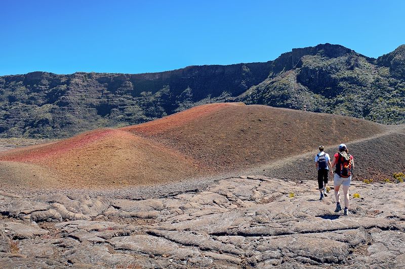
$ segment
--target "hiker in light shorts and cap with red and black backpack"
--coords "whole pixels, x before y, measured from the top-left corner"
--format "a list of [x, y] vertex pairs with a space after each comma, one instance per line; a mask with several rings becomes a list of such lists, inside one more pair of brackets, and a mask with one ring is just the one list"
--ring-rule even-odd
[[335, 177], [333, 181], [336, 198], [335, 212], [342, 210], [340, 205], [340, 185], [343, 185], [343, 194], [345, 200], [345, 208], [343, 214], [349, 214], [349, 187], [351, 181], [351, 173], [354, 168], [353, 156], [349, 154], [349, 150], [345, 144], [339, 145], [339, 151], [335, 154], [332, 166], [336, 165]]

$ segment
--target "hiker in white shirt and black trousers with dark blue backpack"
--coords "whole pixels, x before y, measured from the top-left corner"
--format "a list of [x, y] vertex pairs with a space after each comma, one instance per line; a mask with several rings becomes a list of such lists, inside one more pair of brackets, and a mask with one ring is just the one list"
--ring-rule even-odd
[[333, 177], [331, 157], [328, 153], [323, 151], [323, 146], [319, 146], [319, 153], [315, 155], [315, 166], [318, 172], [319, 200], [322, 200], [323, 197], [328, 196], [326, 193], [326, 187], [328, 186], [328, 173], [331, 173]]

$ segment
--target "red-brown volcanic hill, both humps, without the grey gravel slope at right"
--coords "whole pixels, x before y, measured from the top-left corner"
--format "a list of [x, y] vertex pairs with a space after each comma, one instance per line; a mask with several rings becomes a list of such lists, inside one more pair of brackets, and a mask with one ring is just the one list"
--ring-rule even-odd
[[174, 182], [247, 169], [388, 129], [265, 105], [207, 104], [144, 124], [3, 152], [0, 182], [42, 188]]

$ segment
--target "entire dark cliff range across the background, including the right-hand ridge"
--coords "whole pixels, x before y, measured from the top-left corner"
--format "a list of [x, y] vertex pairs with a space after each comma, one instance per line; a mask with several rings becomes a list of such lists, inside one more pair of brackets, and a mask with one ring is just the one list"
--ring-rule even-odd
[[0, 137], [67, 137], [222, 101], [405, 122], [405, 46], [378, 59], [332, 44], [267, 63], [147, 74], [33, 72], [0, 77]]

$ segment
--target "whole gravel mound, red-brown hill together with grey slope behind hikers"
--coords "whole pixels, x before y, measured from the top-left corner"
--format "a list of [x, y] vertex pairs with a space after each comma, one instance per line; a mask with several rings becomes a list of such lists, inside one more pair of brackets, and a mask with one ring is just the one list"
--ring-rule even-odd
[[148, 196], [247, 171], [314, 179], [317, 146], [332, 154], [342, 142], [355, 156], [357, 179], [382, 180], [404, 171], [403, 130], [264, 105], [209, 104], [141, 125], [2, 152], [0, 184], [50, 191], [123, 188]]

